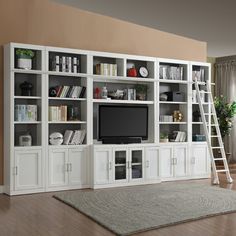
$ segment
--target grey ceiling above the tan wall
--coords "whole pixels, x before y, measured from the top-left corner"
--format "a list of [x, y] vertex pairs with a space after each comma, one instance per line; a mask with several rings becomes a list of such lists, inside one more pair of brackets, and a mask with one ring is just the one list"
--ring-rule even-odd
[[207, 42], [209, 57], [236, 55], [235, 0], [54, 0]]

